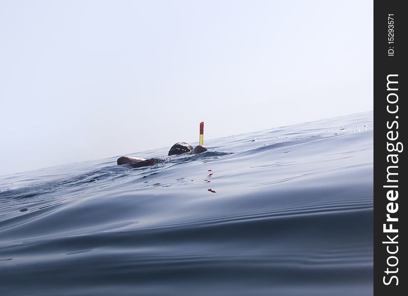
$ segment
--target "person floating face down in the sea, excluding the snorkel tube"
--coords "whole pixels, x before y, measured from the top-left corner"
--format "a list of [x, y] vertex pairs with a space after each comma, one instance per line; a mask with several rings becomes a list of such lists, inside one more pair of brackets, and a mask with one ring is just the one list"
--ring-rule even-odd
[[[171, 155], [186, 155], [186, 154], [198, 154], [201, 152], [207, 151], [207, 147], [204, 145], [198, 145], [194, 149], [192, 148], [191, 145], [185, 142], [179, 142], [174, 144], [170, 150], [169, 153], [167, 154], [168, 156]], [[140, 168], [144, 166], [149, 166], [153, 165], [155, 161], [158, 160], [158, 158], [150, 158], [150, 159], [144, 159], [144, 158], [137, 158], [137, 157], [132, 157], [132, 156], [120, 156], [117, 159], [117, 164], [129, 164], [133, 168]]]

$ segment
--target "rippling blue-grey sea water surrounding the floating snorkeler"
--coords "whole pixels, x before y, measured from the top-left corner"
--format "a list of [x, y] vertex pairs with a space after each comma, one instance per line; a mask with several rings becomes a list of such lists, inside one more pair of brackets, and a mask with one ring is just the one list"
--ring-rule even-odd
[[1, 176], [0, 294], [372, 295], [372, 120]]

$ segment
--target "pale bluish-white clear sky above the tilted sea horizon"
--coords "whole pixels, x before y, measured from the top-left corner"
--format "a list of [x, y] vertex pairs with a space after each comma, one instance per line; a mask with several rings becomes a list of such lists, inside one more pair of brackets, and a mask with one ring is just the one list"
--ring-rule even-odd
[[0, 0], [0, 28], [0, 175], [373, 109], [371, 0]]

